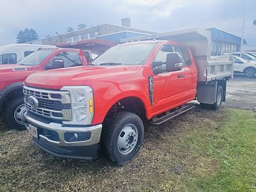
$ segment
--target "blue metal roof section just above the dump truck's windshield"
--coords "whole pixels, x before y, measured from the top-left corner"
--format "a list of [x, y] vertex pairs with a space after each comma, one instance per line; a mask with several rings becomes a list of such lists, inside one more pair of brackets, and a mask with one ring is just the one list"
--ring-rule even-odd
[[138, 33], [138, 32], [134, 32], [134, 31], [121, 31], [121, 32], [117, 32], [117, 33], [111, 33], [108, 35], [101, 35], [101, 36], [98, 36], [97, 38], [99, 38], [101, 40], [119, 43], [120, 40], [123, 38], [134, 38], [137, 36], [145, 36], [145, 35], [150, 35], [150, 34]]

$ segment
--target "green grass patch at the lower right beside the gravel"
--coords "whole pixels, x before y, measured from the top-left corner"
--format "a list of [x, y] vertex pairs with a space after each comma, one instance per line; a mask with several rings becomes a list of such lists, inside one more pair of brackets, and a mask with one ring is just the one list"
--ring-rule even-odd
[[237, 109], [227, 112], [220, 129], [196, 130], [189, 138], [191, 147], [220, 163], [213, 175], [203, 175], [189, 184], [195, 191], [256, 191], [256, 114]]

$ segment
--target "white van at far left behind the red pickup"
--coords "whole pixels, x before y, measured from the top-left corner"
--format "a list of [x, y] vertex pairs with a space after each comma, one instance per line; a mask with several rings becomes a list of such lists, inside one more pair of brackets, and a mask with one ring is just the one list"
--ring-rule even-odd
[[0, 65], [15, 64], [38, 49], [56, 47], [54, 45], [8, 44], [0, 46]]

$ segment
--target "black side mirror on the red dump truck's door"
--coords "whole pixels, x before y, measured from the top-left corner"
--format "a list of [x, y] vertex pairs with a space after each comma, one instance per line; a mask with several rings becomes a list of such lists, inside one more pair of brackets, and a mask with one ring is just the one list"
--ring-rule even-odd
[[170, 52], [166, 55], [166, 71], [172, 72], [181, 70], [184, 66], [182, 57], [178, 52]]

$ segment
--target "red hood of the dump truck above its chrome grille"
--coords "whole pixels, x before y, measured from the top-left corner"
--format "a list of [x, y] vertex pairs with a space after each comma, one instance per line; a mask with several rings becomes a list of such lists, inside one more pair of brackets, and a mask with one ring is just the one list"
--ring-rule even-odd
[[59, 90], [63, 86], [90, 85], [97, 81], [115, 81], [118, 76], [124, 77], [136, 72], [138, 66], [108, 66], [108, 67], [71, 67], [37, 72], [31, 74], [25, 84], [38, 88]]

